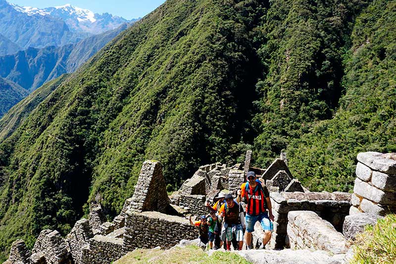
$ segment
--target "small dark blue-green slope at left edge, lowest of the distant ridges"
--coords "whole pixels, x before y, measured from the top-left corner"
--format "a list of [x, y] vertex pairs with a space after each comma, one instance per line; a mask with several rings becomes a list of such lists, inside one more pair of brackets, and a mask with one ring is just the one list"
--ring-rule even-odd
[[0, 77], [0, 116], [27, 95], [28, 91]]

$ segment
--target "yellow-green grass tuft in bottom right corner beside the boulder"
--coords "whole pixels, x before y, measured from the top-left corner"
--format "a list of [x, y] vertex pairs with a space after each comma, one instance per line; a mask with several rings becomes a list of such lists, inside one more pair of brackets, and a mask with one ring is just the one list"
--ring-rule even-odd
[[396, 260], [396, 215], [388, 214], [356, 237], [353, 264], [394, 263]]

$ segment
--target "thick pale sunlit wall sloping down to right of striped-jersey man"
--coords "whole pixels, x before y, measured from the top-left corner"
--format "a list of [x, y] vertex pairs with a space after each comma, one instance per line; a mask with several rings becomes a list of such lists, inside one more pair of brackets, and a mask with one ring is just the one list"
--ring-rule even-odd
[[291, 249], [325, 250], [333, 254], [347, 253], [349, 243], [334, 226], [313, 211], [288, 213], [288, 244]]

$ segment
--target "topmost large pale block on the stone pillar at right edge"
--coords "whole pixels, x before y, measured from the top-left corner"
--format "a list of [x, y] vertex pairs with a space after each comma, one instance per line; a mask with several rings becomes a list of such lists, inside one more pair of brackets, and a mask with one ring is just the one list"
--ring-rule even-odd
[[387, 174], [396, 174], [396, 160], [394, 155], [379, 152], [364, 152], [357, 155], [357, 160], [373, 170]]

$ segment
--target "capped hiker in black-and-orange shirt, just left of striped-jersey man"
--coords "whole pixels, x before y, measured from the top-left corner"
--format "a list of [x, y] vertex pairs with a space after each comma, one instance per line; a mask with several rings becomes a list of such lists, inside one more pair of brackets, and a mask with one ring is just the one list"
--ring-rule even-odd
[[220, 208], [220, 215], [223, 217], [223, 228], [221, 238], [227, 243], [227, 250], [231, 250], [231, 240], [233, 234], [238, 241], [238, 250], [242, 250], [244, 244], [245, 219], [241, 217], [239, 204], [234, 201], [231, 194], [226, 194], [225, 204]]

